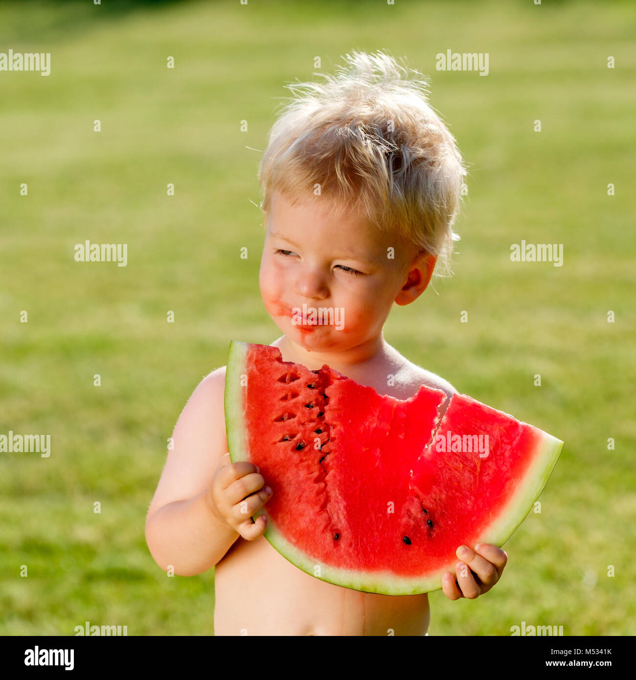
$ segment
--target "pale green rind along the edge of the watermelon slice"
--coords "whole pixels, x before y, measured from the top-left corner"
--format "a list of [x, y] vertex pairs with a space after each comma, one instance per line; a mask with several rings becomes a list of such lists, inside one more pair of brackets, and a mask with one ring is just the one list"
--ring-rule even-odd
[[[250, 460], [248, 453], [247, 424], [244, 422], [244, 388], [241, 386], [241, 375], [247, 375], [248, 343], [231, 341], [225, 378], [224, 409], [227, 422], [228, 448], [232, 462]], [[563, 448], [563, 441], [552, 437], [548, 432], [535, 428], [537, 445], [533, 452], [533, 462], [524, 475], [525, 484], [520, 484], [510, 500], [499, 511], [498, 518], [488, 526], [486, 531], [475, 540], [477, 543], [492, 543], [501, 547], [520, 526], [543, 488], [548, 483], [558, 456]], [[254, 514], [267, 515], [265, 538], [286, 559], [305, 573], [321, 581], [353, 588], [364, 592], [385, 595], [416, 595], [441, 589], [441, 577], [446, 571], [454, 573], [453, 558], [447, 566], [437, 569], [426, 577], [408, 578], [393, 573], [353, 571], [321, 564], [302, 550], [292, 545], [278, 530], [267, 513], [265, 507]], [[459, 545], [457, 546], [459, 547]], [[471, 545], [470, 547], [474, 547]]]

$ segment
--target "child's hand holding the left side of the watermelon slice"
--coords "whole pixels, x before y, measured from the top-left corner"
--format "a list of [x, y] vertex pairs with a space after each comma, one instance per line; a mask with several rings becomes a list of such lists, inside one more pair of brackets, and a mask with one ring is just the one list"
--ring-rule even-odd
[[231, 526], [247, 541], [263, 536], [267, 517], [260, 515], [256, 522], [252, 515], [271, 498], [271, 488], [263, 488], [265, 479], [252, 463], [230, 460], [230, 454], [221, 458], [208, 490], [212, 511], [221, 522]]

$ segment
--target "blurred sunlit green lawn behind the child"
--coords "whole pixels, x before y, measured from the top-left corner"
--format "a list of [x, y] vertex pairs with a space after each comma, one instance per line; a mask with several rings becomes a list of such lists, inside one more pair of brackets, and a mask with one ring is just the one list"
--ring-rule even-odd
[[[212, 633], [214, 572], [166, 577], [146, 511], [199, 380], [231, 339], [280, 335], [248, 147], [285, 83], [353, 48], [431, 75], [471, 163], [455, 275], [386, 339], [565, 441], [501, 583], [431, 594], [430, 634], [635, 634], [635, 27], [627, 2], [3, 3], [0, 51], [52, 56], [48, 78], [0, 73], [0, 434], [49, 433], [52, 455], [0, 456], [0, 634]], [[488, 52], [489, 75], [435, 71], [447, 49]], [[127, 267], [75, 262], [86, 239], [127, 243]], [[522, 239], [563, 243], [563, 267], [511, 262]]]

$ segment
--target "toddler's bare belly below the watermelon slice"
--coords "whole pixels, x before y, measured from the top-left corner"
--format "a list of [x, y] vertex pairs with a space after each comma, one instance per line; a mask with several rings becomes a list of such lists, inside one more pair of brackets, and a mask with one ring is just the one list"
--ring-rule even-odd
[[424, 635], [429, 598], [364, 593], [320, 581], [263, 537], [237, 539], [216, 565], [216, 635]]

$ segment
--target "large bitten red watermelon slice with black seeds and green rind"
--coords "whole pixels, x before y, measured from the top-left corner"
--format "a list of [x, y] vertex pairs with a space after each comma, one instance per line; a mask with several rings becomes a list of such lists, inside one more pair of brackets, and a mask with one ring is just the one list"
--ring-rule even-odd
[[441, 588], [460, 545], [503, 543], [543, 490], [563, 442], [464, 394], [380, 396], [326, 364], [232, 342], [225, 380], [231, 460], [273, 494], [265, 537], [310, 575], [412, 595]]

